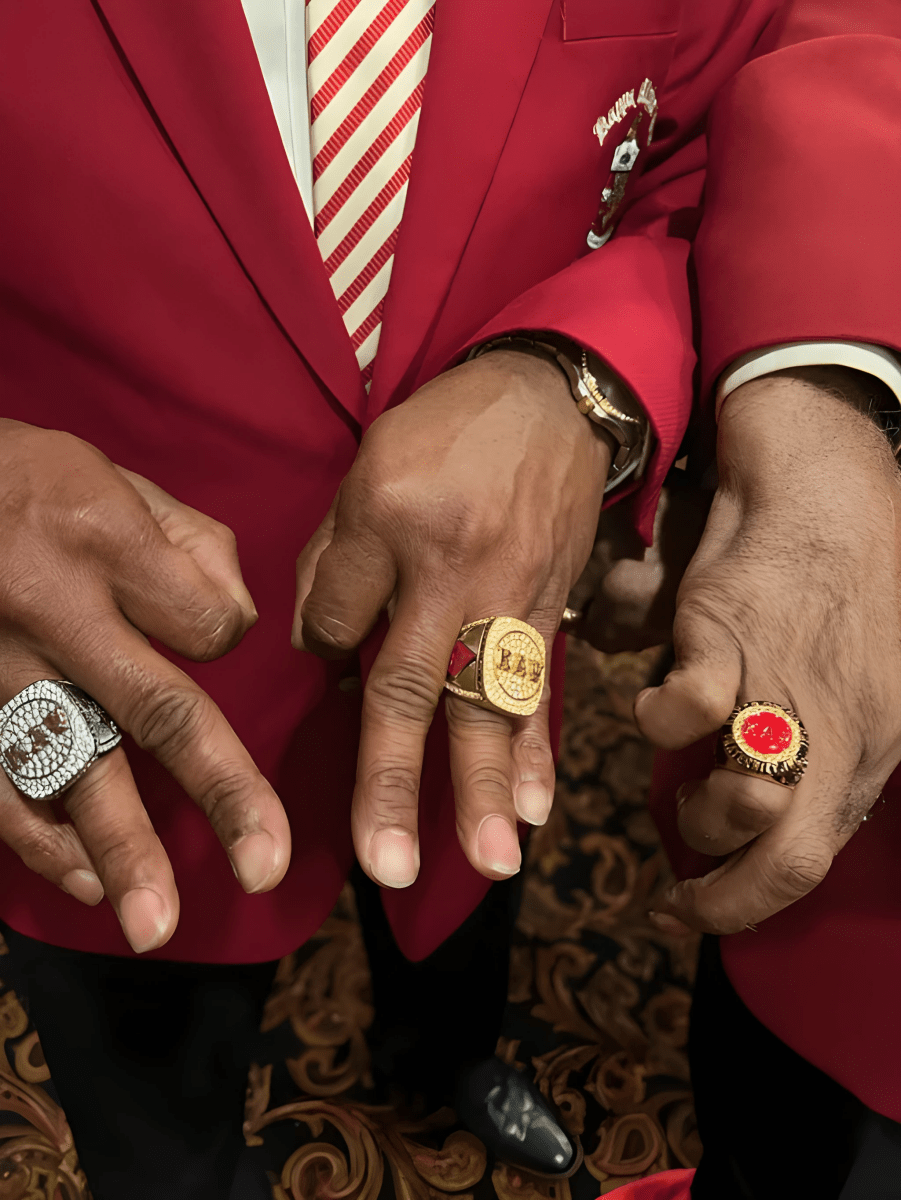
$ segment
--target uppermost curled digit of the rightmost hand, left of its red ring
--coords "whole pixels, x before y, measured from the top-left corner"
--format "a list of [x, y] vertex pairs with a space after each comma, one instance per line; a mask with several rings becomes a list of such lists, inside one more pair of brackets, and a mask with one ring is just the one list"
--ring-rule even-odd
[[721, 618], [691, 595], [677, 610], [673, 644], [673, 670], [635, 701], [638, 728], [663, 750], [679, 750], [719, 730], [741, 684], [738, 643]]

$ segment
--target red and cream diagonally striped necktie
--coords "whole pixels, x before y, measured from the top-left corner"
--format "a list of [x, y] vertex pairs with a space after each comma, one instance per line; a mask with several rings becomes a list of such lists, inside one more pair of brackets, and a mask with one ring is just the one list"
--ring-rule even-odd
[[307, 0], [314, 230], [368, 388], [434, 0]]

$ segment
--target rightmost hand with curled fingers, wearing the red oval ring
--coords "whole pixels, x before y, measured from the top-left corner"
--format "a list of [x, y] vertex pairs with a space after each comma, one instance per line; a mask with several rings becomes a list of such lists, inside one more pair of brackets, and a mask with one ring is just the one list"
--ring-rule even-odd
[[685, 841], [729, 857], [668, 894], [659, 923], [671, 931], [734, 932], [816, 887], [901, 758], [901, 475], [876, 425], [829, 390], [853, 397], [860, 378], [780, 372], [723, 407], [677, 664], [638, 696], [636, 718], [677, 749], [737, 702], [787, 704], [810, 766], [793, 791], [721, 768], [683, 787]]

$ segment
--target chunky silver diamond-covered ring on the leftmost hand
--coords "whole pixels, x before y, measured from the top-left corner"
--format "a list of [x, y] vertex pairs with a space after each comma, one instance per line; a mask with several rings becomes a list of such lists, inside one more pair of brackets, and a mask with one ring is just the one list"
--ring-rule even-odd
[[61, 796], [121, 740], [109, 713], [65, 679], [40, 679], [0, 708], [0, 767], [32, 800]]

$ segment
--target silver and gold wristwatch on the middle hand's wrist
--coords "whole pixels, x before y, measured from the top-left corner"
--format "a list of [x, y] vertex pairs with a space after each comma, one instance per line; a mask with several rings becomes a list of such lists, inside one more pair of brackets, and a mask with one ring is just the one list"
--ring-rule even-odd
[[555, 362], [572, 392], [579, 413], [613, 437], [617, 452], [605, 492], [625, 479], [638, 479], [648, 464], [653, 437], [650, 421], [623, 382], [596, 355], [558, 334], [506, 334], [474, 347], [467, 361], [491, 350], [521, 350]]

